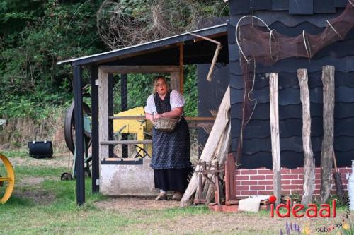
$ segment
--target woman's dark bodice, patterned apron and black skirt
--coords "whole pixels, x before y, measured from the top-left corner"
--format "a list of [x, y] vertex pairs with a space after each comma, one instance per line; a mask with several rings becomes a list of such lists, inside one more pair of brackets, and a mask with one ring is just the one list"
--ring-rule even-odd
[[[158, 114], [171, 111], [170, 92], [164, 100], [154, 95]], [[187, 121], [181, 121], [171, 132], [152, 129], [152, 164], [155, 188], [164, 191], [184, 192], [188, 186], [188, 174], [192, 171], [190, 163], [190, 138]]]

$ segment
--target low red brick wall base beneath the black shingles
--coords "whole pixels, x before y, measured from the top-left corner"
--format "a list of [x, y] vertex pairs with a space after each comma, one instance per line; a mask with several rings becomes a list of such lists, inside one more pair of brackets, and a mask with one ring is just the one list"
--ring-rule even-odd
[[[333, 170], [334, 171], [334, 170]], [[348, 191], [348, 175], [351, 167], [342, 167], [341, 173], [343, 188]], [[321, 183], [321, 169], [315, 169], [314, 195], [319, 195]], [[296, 169], [281, 168], [282, 195], [302, 195], [304, 183], [304, 168]], [[335, 190], [332, 181], [332, 190]], [[236, 172], [236, 195], [244, 198], [250, 195], [271, 195], [273, 194], [273, 172], [270, 169], [238, 169]]]

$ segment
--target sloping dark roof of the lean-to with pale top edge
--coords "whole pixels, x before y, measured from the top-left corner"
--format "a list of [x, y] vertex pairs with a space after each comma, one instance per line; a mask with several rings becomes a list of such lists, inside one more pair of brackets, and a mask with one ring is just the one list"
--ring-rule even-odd
[[[193, 33], [193, 35], [192, 35]], [[185, 64], [205, 64], [211, 63], [215, 52], [216, 44], [203, 40], [196, 35], [213, 38], [221, 41], [224, 49], [219, 54], [219, 62], [228, 62], [227, 52], [227, 23], [215, 25], [209, 28], [202, 28], [192, 32], [185, 32], [181, 35], [166, 37], [161, 40], [146, 42], [131, 47], [116, 49], [110, 52], [93, 54], [59, 61], [57, 64], [72, 64], [72, 66], [85, 65], [156, 65], [156, 64], [178, 64], [179, 45], [184, 47]]]

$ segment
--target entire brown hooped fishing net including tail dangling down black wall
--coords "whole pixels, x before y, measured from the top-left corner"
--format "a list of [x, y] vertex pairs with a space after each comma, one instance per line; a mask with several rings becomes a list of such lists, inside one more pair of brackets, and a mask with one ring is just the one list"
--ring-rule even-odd
[[244, 102], [237, 159], [242, 154], [242, 134], [251, 119], [257, 101], [252, 99], [256, 63], [271, 66], [276, 61], [290, 57], [312, 58], [316, 52], [338, 40], [343, 40], [354, 26], [354, 1], [337, 18], [327, 20], [326, 28], [318, 35], [302, 31], [297, 37], [288, 37], [271, 30], [256, 16], [244, 16], [236, 25], [236, 42], [240, 51], [244, 78]]

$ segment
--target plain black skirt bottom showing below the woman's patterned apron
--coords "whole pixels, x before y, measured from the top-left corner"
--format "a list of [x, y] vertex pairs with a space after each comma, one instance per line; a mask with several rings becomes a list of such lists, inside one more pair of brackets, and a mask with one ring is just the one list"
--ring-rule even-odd
[[184, 193], [188, 187], [188, 177], [192, 172], [193, 169], [190, 167], [182, 169], [154, 169], [155, 188]]

